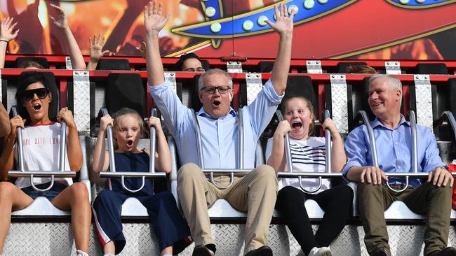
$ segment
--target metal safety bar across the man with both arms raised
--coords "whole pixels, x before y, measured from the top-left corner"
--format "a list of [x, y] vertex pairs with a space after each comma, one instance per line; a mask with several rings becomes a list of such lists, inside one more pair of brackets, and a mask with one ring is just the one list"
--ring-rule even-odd
[[[198, 161], [199, 166], [201, 167], [201, 171], [203, 171], [205, 176], [209, 176], [210, 183], [213, 183], [215, 187], [218, 187], [220, 190], [224, 190], [234, 183], [234, 176], [246, 176], [251, 169], [243, 169], [243, 141], [244, 141], [244, 134], [243, 134], [243, 122], [242, 122], [242, 113], [243, 109], [239, 108], [238, 110], [238, 131], [239, 131], [239, 152], [238, 152], [238, 162], [236, 164], [237, 169], [206, 169], [204, 166], [204, 158], [203, 158], [203, 141], [201, 139], [201, 128], [199, 126], [198, 118], [196, 118], [196, 113], [192, 110], [193, 113], [193, 123], [195, 127], [195, 135], [196, 135], [196, 152], [198, 152]], [[229, 184], [227, 186], [220, 186], [214, 182], [214, 174], [217, 175], [227, 175], [229, 176]]]

